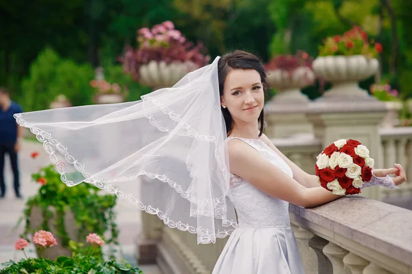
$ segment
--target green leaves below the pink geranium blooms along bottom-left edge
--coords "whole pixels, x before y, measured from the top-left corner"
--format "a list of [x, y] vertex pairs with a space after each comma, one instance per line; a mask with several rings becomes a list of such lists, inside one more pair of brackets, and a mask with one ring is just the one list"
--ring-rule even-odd
[[107, 260], [94, 256], [76, 254], [73, 258], [60, 256], [56, 260], [47, 259], [22, 259], [19, 262], [10, 260], [3, 263], [5, 268], [0, 274], [24, 273], [24, 274], [132, 274], [143, 272], [138, 267], [132, 267], [122, 260]]

